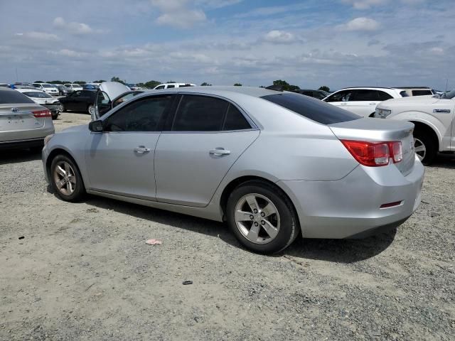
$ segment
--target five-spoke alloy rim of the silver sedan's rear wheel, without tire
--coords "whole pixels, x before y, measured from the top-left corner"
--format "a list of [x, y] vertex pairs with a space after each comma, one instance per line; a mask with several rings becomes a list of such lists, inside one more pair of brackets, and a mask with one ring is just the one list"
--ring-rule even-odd
[[264, 195], [247, 194], [235, 205], [235, 224], [250, 242], [267, 244], [278, 235], [279, 212], [272, 200]]

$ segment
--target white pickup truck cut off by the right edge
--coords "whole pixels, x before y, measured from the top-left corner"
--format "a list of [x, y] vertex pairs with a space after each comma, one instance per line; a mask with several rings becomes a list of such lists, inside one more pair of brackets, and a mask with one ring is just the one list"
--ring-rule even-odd
[[441, 96], [389, 99], [376, 107], [375, 117], [414, 123], [414, 148], [419, 159], [432, 163], [437, 152], [455, 152], [455, 90]]

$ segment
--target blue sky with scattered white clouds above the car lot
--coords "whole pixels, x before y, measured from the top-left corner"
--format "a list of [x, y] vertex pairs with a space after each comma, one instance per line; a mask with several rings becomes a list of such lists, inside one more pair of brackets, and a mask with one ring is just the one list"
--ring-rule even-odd
[[0, 13], [0, 82], [455, 87], [455, 0], [0, 0]]

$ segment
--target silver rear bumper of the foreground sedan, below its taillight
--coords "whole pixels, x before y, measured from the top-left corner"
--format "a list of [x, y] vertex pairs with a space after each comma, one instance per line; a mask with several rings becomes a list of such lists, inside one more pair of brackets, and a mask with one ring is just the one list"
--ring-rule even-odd
[[[297, 210], [303, 237], [361, 238], [392, 229], [417, 210], [424, 167], [403, 176], [394, 165], [358, 166], [337, 181], [279, 181]], [[380, 208], [389, 202], [400, 205]]]

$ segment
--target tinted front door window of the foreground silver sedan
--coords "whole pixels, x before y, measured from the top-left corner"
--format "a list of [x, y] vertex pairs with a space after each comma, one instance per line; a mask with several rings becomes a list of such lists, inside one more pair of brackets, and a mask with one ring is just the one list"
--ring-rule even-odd
[[119, 109], [106, 119], [105, 131], [158, 131], [158, 124], [171, 95], [148, 97]]

